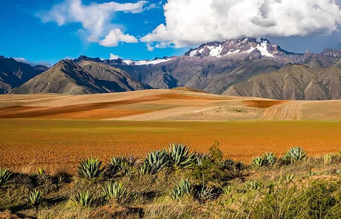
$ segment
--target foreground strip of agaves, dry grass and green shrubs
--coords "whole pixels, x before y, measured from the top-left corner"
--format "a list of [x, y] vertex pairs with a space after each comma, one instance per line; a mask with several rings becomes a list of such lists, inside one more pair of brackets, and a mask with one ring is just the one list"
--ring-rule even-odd
[[87, 158], [67, 171], [0, 168], [0, 218], [341, 218], [341, 152], [293, 147], [250, 165], [182, 144], [145, 157]]

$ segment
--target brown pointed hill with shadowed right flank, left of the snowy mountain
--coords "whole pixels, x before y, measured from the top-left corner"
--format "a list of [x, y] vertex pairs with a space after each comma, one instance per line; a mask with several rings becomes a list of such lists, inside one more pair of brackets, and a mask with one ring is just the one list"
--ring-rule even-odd
[[81, 59], [61, 60], [11, 93], [87, 94], [146, 88], [123, 71], [118, 72], [104, 63]]

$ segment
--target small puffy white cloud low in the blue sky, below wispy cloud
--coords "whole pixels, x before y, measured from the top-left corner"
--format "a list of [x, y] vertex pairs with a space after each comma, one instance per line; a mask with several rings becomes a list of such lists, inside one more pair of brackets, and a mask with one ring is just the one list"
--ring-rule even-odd
[[119, 42], [137, 43], [138, 41], [134, 36], [124, 34], [120, 29], [116, 28], [111, 30], [99, 44], [105, 47], [113, 47], [117, 46]]

